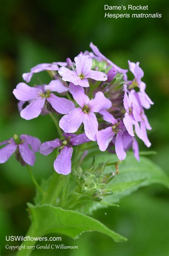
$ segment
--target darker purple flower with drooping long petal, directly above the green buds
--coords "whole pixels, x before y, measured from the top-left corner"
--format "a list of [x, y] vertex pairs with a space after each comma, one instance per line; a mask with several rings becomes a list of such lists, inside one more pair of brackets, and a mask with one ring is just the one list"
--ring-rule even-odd
[[71, 172], [72, 146], [77, 146], [90, 140], [84, 133], [79, 135], [64, 133], [63, 136], [65, 137], [64, 140], [55, 139], [42, 143], [40, 146], [40, 153], [48, 155], [55, 148], [60, 147], [60, 154], [55, 159], [53, 166], [57, 173], [67, 175]]

